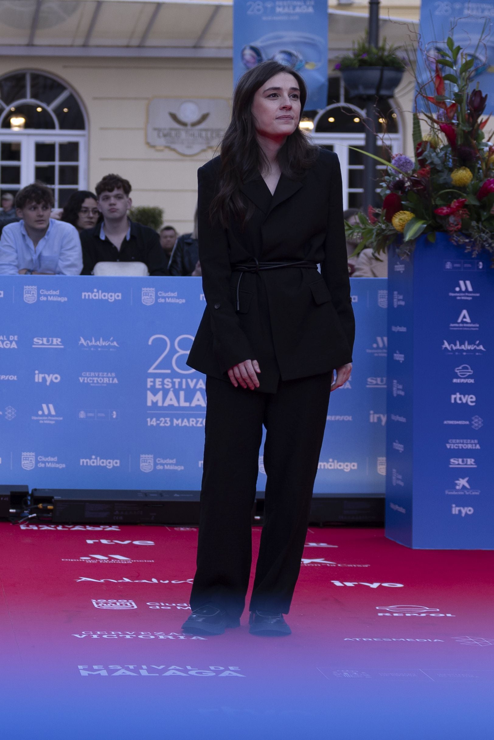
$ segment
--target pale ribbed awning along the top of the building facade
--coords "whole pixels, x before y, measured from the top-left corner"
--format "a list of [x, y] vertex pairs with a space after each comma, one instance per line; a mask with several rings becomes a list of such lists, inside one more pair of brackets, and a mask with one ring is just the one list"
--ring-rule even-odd
[[[351, 6], [350, 6], [351, 7]], [[410, 41], [416, 21], [381, 18], [381, 38]], [[367, 16], [328, 11], [329, 50], [350, 49]], [[218, 0], [0, 0], [1, 55], [232, 56], [232, 3]]]

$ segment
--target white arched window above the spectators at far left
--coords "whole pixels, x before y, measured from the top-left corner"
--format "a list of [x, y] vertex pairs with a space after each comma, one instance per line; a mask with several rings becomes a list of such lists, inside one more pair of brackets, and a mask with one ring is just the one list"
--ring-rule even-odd
[[35, 180], [53, 189], [63, 207], [87, 187], [87, 126], [76, 94], [35, 70], [0, 78], [0, 192]]

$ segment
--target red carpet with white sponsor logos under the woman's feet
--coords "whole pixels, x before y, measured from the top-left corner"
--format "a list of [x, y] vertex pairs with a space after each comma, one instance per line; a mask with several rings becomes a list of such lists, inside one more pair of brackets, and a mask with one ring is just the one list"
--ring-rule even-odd
[[198, 639], [196, 538], [0, 524], [2, 738], [494, 737], [493, 552], [313, 528], [291, 636]]

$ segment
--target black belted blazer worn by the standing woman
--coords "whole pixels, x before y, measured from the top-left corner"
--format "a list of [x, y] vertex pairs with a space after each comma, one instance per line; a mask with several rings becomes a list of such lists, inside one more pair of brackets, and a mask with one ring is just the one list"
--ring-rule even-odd
[[[187, 364], [213, 377], [257, 360], [259, 391], [352, 361], [355, 320], [350, 298], [338, 157], [320, 149], [300, 181], [281, 175], [271, 195], [261, 175], [241, 186], [254, 206], [245, 227], [211, 225], [220, 158], [198, 169], [198, 241], [206, 309]], [[247, 200], [248, 199], [248, 200]], [[309, 260], [307, 267], [257, 273], [232, 266]], [[240, 286], [238, 279], [241, 277]], [[238, 289], [239, 288], [239, 289]], [[236, 310], [238, 289], [239, 306]]]

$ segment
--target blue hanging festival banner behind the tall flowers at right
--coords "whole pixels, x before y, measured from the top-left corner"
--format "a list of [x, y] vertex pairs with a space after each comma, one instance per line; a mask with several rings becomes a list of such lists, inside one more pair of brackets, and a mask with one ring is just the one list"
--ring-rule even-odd
[[[453, 33], [455, 45], [474, 58], [473, 82], [494, 98], [494, 2], [454, 2], [422, 0], [420, 43], [425, 52], [427, 69], [419, 69], [419, 78], [427, 80], [435, 71], [435, 60], [441, 58], [446, 39]], [[422, 55], [418, 55], [421, 64]], [[448, 70], [443, 68], [444, 72]], [[430, 92], [433, 95], [433, 91]]]

